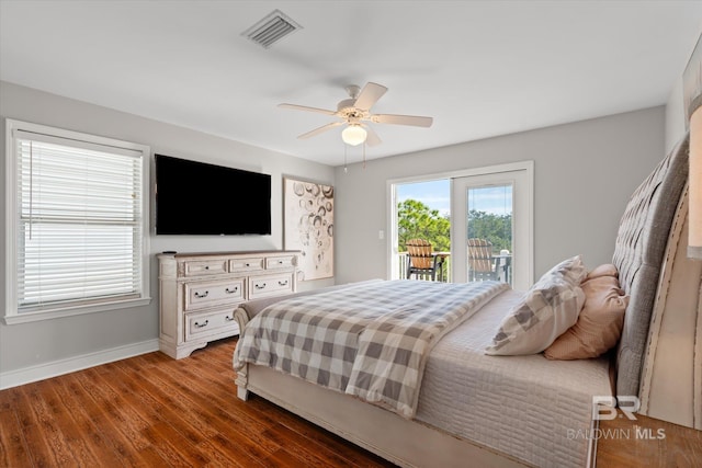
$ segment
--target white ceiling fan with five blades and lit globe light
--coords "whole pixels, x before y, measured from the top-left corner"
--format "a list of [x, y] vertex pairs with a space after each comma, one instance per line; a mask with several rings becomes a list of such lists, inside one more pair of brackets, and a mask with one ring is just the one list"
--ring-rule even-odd
[[369, 146], [380, 145], [381, 138], [377, 134], [364, 124], [364, 122], [372, 122], [374, 124], [394, 124], [394, 125], [411, 125], [415, 127], [430, 127], [433, 118], [422, 117], [417, 115], [397, 115], [397, 114], [371, 114], [371, 107], [380, 100], [383, 94], [387, 92], [387, 88], [367, 82], [363, 89], [355, 84], [350, 84], [347, 88], [349, 99], [344, 99], [337, 104], [336, 111], [329, 111], [326, 109], [308, 107], [306, 105], [297, 104], [279, 104], [279, 107], [294, 109], [297, 111], [317, 112], [320, 114], [331, 115], [341, 118], [339, 122], [332, 122], [324, 125], [319, 128], [315, 128], [312, 132], [307, 132], [298, 136], [297, 138], [309, 138], [319, 135], [331, 128], [346, 125], [347, 127], [341, 133], [341, 139], [347, 145], [356, 146], [362, 142]]

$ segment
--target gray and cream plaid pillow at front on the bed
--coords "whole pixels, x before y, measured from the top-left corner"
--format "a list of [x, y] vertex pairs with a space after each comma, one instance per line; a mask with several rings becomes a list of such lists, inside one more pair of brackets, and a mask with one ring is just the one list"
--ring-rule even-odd
[[551, 269], [502, 319], [485, 354], [536, 354], [548, 347], [578, 320], [586, 275], [580, 255]]

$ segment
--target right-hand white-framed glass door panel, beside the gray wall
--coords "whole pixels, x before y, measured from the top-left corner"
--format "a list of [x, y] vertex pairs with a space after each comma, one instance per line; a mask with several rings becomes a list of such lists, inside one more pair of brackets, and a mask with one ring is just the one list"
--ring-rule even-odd
[[476, 170], [451, 179], [454, 283], [533, 282], [533, 162]]

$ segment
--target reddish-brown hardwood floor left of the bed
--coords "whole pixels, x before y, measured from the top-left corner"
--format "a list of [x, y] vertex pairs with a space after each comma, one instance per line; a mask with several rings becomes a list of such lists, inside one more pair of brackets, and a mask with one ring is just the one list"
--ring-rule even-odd
[[392, 467], [257, 397], [236, 397], [236, 339], [0, 391], [0, 467]]

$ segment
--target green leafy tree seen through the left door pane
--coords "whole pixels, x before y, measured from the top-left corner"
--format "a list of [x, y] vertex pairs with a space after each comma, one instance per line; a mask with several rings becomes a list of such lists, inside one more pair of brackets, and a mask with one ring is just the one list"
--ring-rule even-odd
[[400, 252], [409, 239], [427, 239], [435, 251], [451, 250], [451, 220], [423, 203], [408, 198], [397, 204], [397, 235]]

